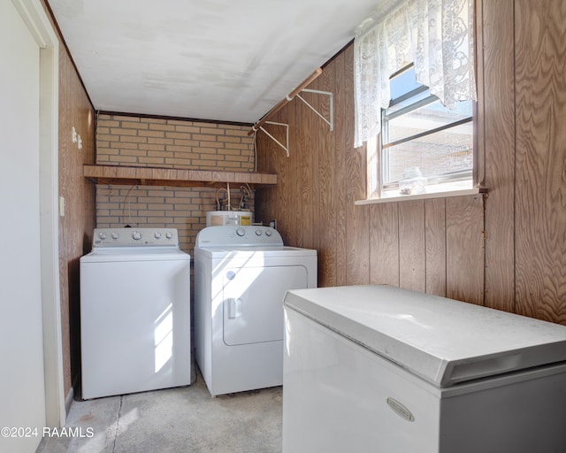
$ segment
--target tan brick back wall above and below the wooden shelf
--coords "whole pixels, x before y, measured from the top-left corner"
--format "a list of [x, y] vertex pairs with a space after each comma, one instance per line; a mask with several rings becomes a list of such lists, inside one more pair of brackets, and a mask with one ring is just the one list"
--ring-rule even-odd
[[[254, 146], [248, 131], [240, 125], [100, 114], [96, 164], [252, 172]], [[181, 249], [192, 255], [206, 212], [216, 210], [216, 193], [217, 188], [99, 184], [96, 226], [174, 227]], [[230, 193], [235, 207], [240, 185], [231, 185]], [[246, 207], [253, 211], [253, 191], [251, 195]]]

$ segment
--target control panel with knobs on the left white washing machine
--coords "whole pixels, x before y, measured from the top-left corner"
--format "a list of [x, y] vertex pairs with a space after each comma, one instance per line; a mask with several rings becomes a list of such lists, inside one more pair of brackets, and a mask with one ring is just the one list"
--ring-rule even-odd
[[96, 247], [179, 247], [177, 228], [95, 228]]

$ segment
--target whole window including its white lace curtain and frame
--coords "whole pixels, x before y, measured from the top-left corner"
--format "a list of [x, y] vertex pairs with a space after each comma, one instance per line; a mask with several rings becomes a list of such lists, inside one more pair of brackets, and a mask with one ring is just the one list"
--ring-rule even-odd
[[356, 203], [479, 190], [474, 14], [475, 0], [398, 0], [356, 28], [354, 147], [368, 151]]

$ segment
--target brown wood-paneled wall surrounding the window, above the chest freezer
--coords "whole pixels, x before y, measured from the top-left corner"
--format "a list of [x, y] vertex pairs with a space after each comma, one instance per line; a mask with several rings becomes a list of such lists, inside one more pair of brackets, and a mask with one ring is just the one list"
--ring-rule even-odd
[[[387, 283], [566, 324], [566, 5], [479, 1], [478, 158], [482, 196], [356, 206], [366, 152], [354, 149], [353, 47], [309, 88], [332, 91], [334, 131], [299, 100], [290, 157], [261, 131], [256, 219], [318, 251], [319, 286]], [[323, 96], [305, 98], [328, 114]], [[280, 133], [277, 127], [270, 132]]]

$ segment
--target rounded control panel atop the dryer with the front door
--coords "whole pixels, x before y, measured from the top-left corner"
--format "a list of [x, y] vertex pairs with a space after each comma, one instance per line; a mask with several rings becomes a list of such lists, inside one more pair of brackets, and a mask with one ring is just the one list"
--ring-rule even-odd
[[196, 247], [283, 245], [281, 235], [269, 226], [208, 226], [196, 235]]

